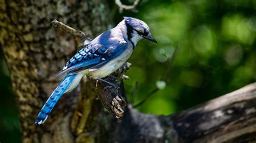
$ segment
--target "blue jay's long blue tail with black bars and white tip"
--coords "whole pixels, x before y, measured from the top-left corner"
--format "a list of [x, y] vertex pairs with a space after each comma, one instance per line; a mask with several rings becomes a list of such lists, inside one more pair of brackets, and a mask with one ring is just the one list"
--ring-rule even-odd
[[51, 96], [48, 98], [43, 108], [38, 113], [35, 124], [43, 124], [53, 107], [58, 102], [59, 98], [65, 92], [71, 91], [72, 89], [76, 88], [82, 77], [83, 73], [73, 75], [70, 75], [70, 73], [68, 73], [59, 83], [58, 87], [52, 92]]

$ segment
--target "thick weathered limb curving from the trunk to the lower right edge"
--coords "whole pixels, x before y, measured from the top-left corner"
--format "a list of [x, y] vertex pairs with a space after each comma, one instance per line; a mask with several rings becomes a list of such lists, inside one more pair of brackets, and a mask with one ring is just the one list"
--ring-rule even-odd
[[117, 142], [255, 142], [256, 83], [170, 116], [126, 109], [108, 136]]

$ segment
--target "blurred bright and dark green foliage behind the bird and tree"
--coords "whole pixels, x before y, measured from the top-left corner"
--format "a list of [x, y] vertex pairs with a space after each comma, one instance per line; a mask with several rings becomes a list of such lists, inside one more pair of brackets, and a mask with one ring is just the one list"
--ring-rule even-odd
[[[170, 82], [139, 106], [139, 111], [170, 115], [255, 82], [256, 1], [144, 0], [138, 13], [119, 13], [112, 1], [110, 5], [116, 23], [122, 16], [142, 19], [158, 41], [140, 41], [129, 59], [132, 67], [125, 88], [131, 99], [132, 87], [138, 81], [134, 103], [165, 76], [167, 62], [159, 51], [164, 49], [172, 55], [180, 47], [171, 66]], [[8, 142], [18, 142], [17, 109], [0, 53], [0, 141], [5, 137]]]

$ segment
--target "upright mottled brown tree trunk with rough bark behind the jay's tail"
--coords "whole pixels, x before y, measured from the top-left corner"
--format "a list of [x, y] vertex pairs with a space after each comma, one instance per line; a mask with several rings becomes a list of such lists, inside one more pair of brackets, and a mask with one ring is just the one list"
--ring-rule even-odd
[[[58, 19], [95, 37], [112, 27], [106, 1], [0, 0], [0, 5], [0, 42], [16, 95], [23, 142], [72, 142], [84, 130], [83, 119], [90, 115], [92, 101], [97, 109], [101, 105], [95, 100], [93, 86], [86, 84], [86, 92], [79, 99], [83, 103], [76, 104], [77, 88], [63, 95], [46, 124], [34, 125], [37, 113], [61, 80], [55, 74], [77, 51], [75, 39], [55, 30], [51, 21]], [[70, 123], [76, 106], [83, 109], [79, 114], [83, 118], [79, 124], [72, 121], [74, 129]]]

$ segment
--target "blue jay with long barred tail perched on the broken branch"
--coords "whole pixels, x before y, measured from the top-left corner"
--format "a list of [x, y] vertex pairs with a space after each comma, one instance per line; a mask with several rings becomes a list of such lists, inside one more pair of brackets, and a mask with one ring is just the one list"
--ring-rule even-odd
[[59, 98], [65, 92], [76, 88], [84, 75], [107, 82], [102, 78], [121, 67], [132, 54], [137, 42], [143, 38], [157, 43], [149, 26], [132, 17], [124, 17], [116, 27], [98, 35], [77, 52], [57, 74], [66, 75], [44, 104], [35, 124], [43, 124]]

